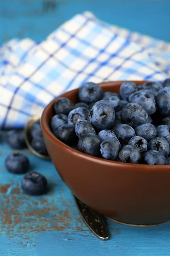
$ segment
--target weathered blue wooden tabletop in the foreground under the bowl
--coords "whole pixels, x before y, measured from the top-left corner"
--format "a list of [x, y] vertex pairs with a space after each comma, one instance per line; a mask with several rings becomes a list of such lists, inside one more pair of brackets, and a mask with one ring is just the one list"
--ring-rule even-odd
[[111, 237], [101, 241], [80, 219], [71, 192], [53, 164], [23, 152], [30, 171], [48, 179], [49, 191], [28, 196], [20, 189], [23, 175], [6, 171], [4, 161], [12, 150], [0, 143], [0, 256], [168, 256], [170, 223], [156, 227], [129, 227], [107, 220]]

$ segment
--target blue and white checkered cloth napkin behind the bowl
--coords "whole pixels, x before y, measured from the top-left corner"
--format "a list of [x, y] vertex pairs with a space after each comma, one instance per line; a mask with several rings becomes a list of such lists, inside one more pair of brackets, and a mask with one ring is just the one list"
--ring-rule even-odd
[[84, 12], [40, 44], [14, 39], [0, 48], [0, 126], [23, 127], [54, 97], [86, 81], [163, 81], [168, 76], [170, 44]]

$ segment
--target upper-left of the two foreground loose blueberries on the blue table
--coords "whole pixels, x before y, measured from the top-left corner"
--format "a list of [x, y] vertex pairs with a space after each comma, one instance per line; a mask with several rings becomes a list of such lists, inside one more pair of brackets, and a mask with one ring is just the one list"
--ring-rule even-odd
[[8, 172], [22, 174], [28, 171], [29, 160], [24, 154], [13, 153], [6, 158], [5, 166]]

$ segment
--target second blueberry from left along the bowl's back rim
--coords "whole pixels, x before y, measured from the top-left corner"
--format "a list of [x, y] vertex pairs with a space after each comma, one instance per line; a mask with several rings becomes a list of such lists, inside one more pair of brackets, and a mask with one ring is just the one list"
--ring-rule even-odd
[[82, 102], [91, 104], [103, 98], [102, 88], [95, 83], [88, 82], [82, 85], [79, 89], [79, 99]]

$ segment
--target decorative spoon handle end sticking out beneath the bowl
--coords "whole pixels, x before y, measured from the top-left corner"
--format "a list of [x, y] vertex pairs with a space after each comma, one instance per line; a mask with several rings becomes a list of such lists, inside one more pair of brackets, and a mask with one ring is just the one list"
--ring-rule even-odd
[[82, 220], [90, 228], [90, 230], [100, 239], [108, 239], [109, 233], [105, 224], [105, 220], [99, 213], [95, 212], [82, 201], [80, 201], [75, 195], [74, 200], [76, 202], [79, 213]]

